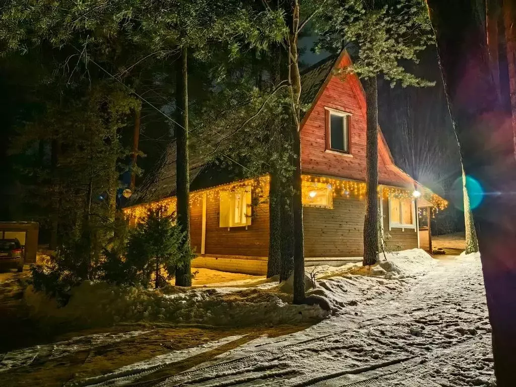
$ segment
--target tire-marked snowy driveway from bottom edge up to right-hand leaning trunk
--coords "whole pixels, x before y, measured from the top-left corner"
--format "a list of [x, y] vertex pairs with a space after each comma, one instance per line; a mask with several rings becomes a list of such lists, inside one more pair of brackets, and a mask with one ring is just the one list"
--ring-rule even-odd
[[307, 330], [253, 340], [180, 374], [167, 375], [164, 367], [108, 385], [495, 385], [478, 257], [439, 261], [400, 290], [366, 297]]

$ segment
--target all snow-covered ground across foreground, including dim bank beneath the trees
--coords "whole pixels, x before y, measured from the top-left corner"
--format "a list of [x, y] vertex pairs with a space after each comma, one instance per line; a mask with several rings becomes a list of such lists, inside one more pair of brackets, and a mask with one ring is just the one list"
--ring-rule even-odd
[[[93, 364], [103, 364], [104, 351], [127, 353], [124, 346], [145, 342], [149, 334], [156, 337], [159, 328], [83, 335], [0, 354], [0, 376], [23, 380], [34, 368], [34, 377], [43, 373], [51, 378], [54, 368], [45, 366], [51, 362], [56, 370], [65, 369], [60, 380], [68, 380], [65, 385], [69, 387], [495, 385], [491, 327], [478, 254], [438, 261], [415, 249], [389, 254], [373, 267], [348, 264], [324, 268], [317, 277], [316, 288], [307, 294], [324, 300], [330, 311], [318, 324], [291, 330], [295, 333], [267, 337], [252, 333], [253, 329], [232, 328], [222, 335], [219, 332], [215, 340], [201, 340], [199, 346], [168, 351], [162, 347], [154, 355], [150, 351], [148, 356], [138, 356], [137, 361], [117, 361], [120, 365], [111, 368], [104, 364], [96, 373]], [[225, 326], [232, 321], [263, 325], [265, 321], [278, 324], [289, 319], [299, 324], [305, 321], [303, 314], [324, 317], [319, 307], [296, 309], [299, 307], [282, 301], [289, 283], [259, 281], [247, 289], [227, 285], [171, 291], [168, 295], [141, 290], [111, 294], [112, 289], [104, 287], [89, 290], [95, 294], [100, 291], [108, 299], [100, 311], [110, 316], [123, 317], [123, 308], [130, 305], [132, 309], [126, 313], [131, 316], [149, 310], [169, 320], [183, 315], [193, 321], [209, 318], [216, 322], [217, 318]], [[85, 309], [93, 308], [79, 306], [80, 301], [82, 297], [65, 316], [82, 316]], [[109, 306], [109, 302], [114, 304]], [[178, 311], [179, 305], [185, 311]], [[70, 377], [67, 362], [80, 358], [79, 353], [89, 353], [86, 359], [95, 363], [86, 374]], [[106, 360], [116, 359], [111, 356]], [[85, 365], [89, 362], [84, 361]]]

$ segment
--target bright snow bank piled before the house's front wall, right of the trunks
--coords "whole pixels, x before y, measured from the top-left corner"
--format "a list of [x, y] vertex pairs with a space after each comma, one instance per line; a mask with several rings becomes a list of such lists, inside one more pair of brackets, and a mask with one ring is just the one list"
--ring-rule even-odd
[[[380, 256], [372, 266], [361, 263], [331, 268], [318, 276], [317, 287], [308, 296], [324, 300], [333, 314], [354, 313], [353, 307], [380, 297], [396, 295], [410, 282], [425, 275], [436, 261], [421, 249], [412, 249]], [[351, 309], [350, 309], [351, 307]]]

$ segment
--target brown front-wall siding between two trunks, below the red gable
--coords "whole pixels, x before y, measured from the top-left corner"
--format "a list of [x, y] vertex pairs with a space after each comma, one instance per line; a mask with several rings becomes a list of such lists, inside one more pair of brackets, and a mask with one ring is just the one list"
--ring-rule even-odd
[[362, 256], [365, 201], [337, 197], [333, 207], [303, 207], [304, 255]]

